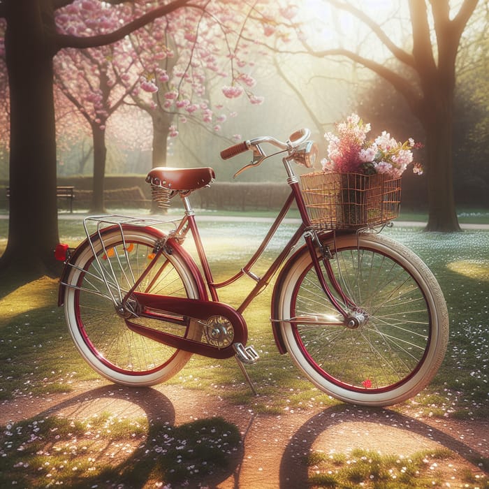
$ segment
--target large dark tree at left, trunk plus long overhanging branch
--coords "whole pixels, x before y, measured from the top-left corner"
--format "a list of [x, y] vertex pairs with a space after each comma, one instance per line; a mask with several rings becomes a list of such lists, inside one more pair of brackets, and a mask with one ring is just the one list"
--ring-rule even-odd
[[[86, 0], [78, 1], [84, 3]], [[10, 219], [8, 244], [0, 258], [0, 274], [15, 271], [38, 276], [54, 268], [57, 244], [56, 133], [53, 58], [64, 48], [93, 48], [123, 39], [157, 17], [186, 6], [174, 0], [156, 8], [147, 2], [140, 15], [107, 33], [83, 35], [59, 31], [59, 15], [72, 0], [0, 0], [6, 22], [5, 59], [10, 93]], [[120, 1], [103, 1], [99, 9], [122, 12]], [[121, 17], [123, 19], [124, 17]]]

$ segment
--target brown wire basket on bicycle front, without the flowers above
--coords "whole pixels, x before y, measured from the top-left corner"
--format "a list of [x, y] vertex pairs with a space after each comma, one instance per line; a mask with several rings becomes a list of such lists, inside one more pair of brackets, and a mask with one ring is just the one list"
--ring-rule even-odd
[[321, 231], [379, 226], [399, 214], [400, 178], [315, 172], [300, 180], [309, 219]]

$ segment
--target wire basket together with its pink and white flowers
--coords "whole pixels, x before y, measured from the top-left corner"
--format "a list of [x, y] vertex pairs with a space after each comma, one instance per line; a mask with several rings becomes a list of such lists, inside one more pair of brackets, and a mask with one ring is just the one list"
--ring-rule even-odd
[[[326, 133], [328, 158], [322, 172], [301, 176], [312, 223], [325, 229], [377, 226], [399, 214], [401, 175], [413, 163], [411, 138], [400, 143], [384, 131], [367, 141], [370, 124], [356, 114]], [[414, 173], [423, 170], [413, 163]]]

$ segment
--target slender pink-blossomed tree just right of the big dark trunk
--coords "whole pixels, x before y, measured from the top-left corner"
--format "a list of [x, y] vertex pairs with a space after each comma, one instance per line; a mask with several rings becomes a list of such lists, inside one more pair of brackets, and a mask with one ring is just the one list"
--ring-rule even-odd
[[[121, 20], [120, 13], [105, 9], [101, 15], [98, 2], [88, 1], [72, 4], [61, 15], [59, 27], [66, 34], [82, 34], [87, 29], [110, 32]], [[133, 17], [126, 10], [125, 22]], [[73, 18], [78, 22], [73, 22]], [[127, 84], [134, 61], [128, 56], [127, 41], [119, 41], [107, 46], [86, 50], [67, 49], [55, 59], [55, 80], [57, 86], [80, 111], [92, 131], [94, 175], [92, 193], [92, 212], [104, 211], [103, 189], [105, 180], [105, 161], [107, 147], [105, 130], [108, 119], [122, 105], [126, 95], [133, 89]]]

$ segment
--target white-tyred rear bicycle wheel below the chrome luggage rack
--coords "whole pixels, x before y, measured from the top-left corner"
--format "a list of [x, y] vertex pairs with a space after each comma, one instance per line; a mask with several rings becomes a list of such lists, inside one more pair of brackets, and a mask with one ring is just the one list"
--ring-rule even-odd
[[[173, 377], [191, 353], [174, 349], [126, 326], [117, 300], [135, 283], [154, 258], [162, 233], [153, 228], [119, 228], [85, 241], [72, 264], [64, 297], [64, 310], [73, 342], [83, 358], [107, 379], [128, 386], [151, 386]], [[94, 254], [95, 252], [95, 254]], [[95, 258], [95, 256], [97, 258]], [[175, 250], [162, 254], [137, 291], [200, 298], [189, 266]], [[140, 319], [131, 321], [198, 340], [195, 321], [187, 326]], [[144, 321], [144, 322], [143, 322]]]

